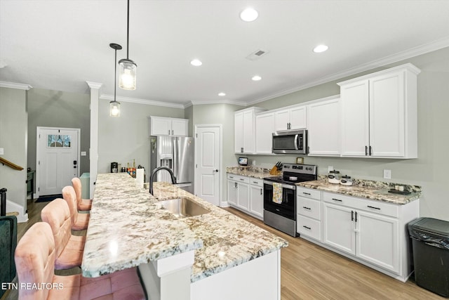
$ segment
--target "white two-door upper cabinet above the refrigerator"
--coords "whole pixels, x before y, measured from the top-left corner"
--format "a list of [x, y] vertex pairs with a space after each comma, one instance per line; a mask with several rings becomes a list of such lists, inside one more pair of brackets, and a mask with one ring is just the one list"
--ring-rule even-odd
[[188, 136], [189, 119], [149, 117], [150, 136]]

